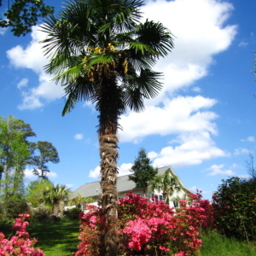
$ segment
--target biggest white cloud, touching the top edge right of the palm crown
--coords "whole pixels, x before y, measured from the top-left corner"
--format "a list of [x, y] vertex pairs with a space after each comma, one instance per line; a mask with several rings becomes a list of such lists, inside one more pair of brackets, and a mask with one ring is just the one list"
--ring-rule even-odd
[[206, 76], [213, 55], [227, 49], [236, 35], [236, 26], [224, 26], [233, 10], [230, 3], [149, 0], [142, 10], [145, 18], [162, 22], [175, 36], [172, 53], [156, 66], [165, 74], [158, 102], [166, 92], [172, 93]]

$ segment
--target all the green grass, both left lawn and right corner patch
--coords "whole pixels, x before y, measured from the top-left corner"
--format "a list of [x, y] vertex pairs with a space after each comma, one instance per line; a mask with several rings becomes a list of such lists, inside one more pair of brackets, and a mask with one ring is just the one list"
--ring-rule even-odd
[[[31, 237], [36, 237], [36, 247], [46, 256], [70, 256], [79, 244], [78, 222], [55, 222], [30, 224], [27, 229]], [[13, 236], [10, 224], [0, 224], [0, 231], [7, 237]], [[256, 256], [255, 247], [245, 241], [227, 238], [215, 231], [204, 232], [200, 256]]]

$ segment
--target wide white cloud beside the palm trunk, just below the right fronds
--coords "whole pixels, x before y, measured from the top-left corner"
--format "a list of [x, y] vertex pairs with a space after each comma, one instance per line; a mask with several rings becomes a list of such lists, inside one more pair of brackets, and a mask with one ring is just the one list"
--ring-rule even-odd
[[[202, 96], [177, 96], [164, 107], [148, 106], [143, 113], [131, 112], [120, 119], [124, 128], [119, 131], [121, 142], [131, 142], [152, 134], [178, 134], [187, 131], [210, 131], [217, 134], [212, 122], [217, 114], [206, 111], [216, 103]], [[177, 111], [178, 109], [178, 111]]]

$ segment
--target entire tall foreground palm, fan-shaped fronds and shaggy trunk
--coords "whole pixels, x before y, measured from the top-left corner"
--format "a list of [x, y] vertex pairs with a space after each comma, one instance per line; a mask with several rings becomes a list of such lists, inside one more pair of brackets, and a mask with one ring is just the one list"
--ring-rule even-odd
[[101, 156], [101, 255], [117, 255], [117, 137], [127, 108], [141, 111], [143, 99], [157, 96], [161, 73], [152, 67], [173, 48], [172, 33], [159, 22], [138, 23], [142, 0], [70, 0], [42, 29], [49, 64], [45, 71], [61, 82], [67, 101], [62, 115], [79, 101], [99, 112]]

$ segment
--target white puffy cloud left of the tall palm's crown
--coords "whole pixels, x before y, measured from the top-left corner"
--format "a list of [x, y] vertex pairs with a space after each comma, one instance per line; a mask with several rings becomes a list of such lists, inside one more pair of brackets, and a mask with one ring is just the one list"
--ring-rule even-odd
[[33, 26], [32, 41], [25, 48], [17, 45], [7, 51], [12, 67], [32, 69], [38, 74], [38, 86], [22, 90], [23, 101], [18, 106], [20, 110], [41, 108], [44, 104], [64, 96], [61, 86], [50, 81], [52, 77], [44, 73], [44, 65], [49, 62], [44, 56], [42, 44], [39, 43], [44, 38], [45, 33], [40, 32], [38, 26]]

